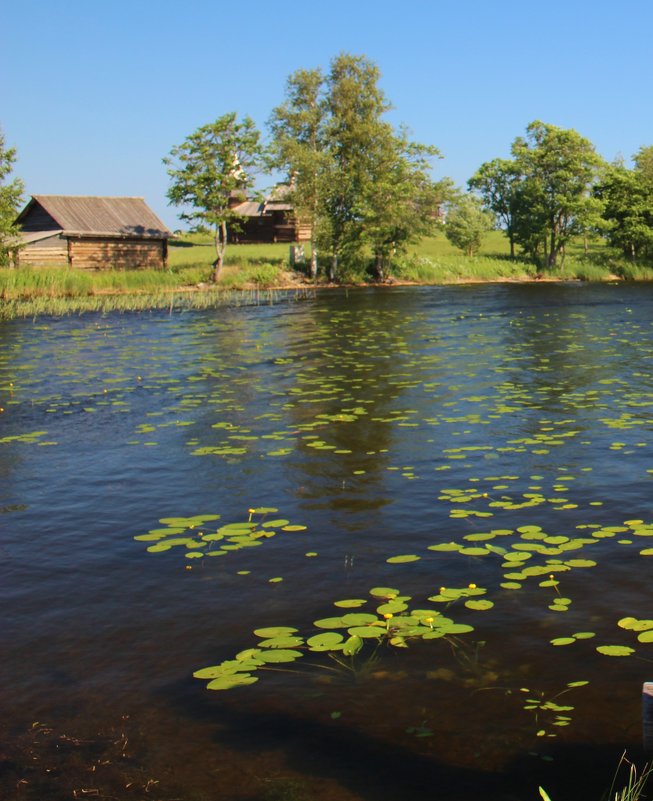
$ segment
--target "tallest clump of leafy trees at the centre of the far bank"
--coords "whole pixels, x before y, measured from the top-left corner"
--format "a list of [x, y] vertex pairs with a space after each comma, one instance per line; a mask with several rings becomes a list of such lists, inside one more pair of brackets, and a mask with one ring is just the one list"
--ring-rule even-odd
[[326, 74], [293, 73], [270, 118], [272, 163], [285, 170], [296, 211], [311, 223], [313, 252], [329, 254], [331, 279], [339, 264], [370, 253], [383, 277], [395, 253], [433, 230], [443, 196], [430, 174], [437, 149], [386, 121], [379, 79], [366, 57], [340, 54]]

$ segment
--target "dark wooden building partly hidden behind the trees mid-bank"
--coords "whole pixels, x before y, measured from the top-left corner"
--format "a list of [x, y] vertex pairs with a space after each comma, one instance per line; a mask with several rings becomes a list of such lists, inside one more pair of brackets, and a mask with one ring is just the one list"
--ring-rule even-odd
[[238, 200], [232, 206], [242, 218], [233, 228], [232, 242], [256, 244], [261, 242], [308, 242], [311, 226], [297, 219], [295, 210], [287, 200], [290, 188], [281, 184], [262, 202]]

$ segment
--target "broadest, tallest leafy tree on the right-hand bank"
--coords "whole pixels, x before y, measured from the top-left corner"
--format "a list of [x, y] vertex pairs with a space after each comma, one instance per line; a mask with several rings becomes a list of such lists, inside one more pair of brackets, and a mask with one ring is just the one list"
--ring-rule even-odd
[[515, 240], [552, 268], [569, 240], [598, 223], [602, 204], [592, 193], [603, 159], [572, 129], [535, 121], [512, 145], [521, 182]]

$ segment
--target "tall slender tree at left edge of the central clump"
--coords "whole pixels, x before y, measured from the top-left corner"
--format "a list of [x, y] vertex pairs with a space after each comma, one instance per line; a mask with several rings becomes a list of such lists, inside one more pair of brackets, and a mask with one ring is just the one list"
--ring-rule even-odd
[[324, 76], [319, 69], [297, 70], [286, 82], [286, 99], [268, 122], [271, 166], [286, 172], [289, 200], [311, 227], [312, 278], [317, 275], [317, 237], [323, 216], [323, 187], [329, 156], [325, 148]]

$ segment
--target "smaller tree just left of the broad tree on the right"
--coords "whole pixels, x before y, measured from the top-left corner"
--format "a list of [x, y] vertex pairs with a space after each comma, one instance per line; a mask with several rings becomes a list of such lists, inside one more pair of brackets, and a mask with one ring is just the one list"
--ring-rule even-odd
[[494, 159], [482, 164], [467, 185], [476, 190], [486, 208], [497, 219], [510, 242], [510, 257], [515, 256], [515, 230], [519, 213], [521, 175], [516, 162]]

